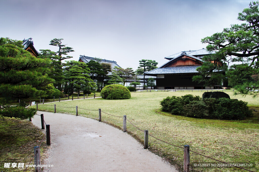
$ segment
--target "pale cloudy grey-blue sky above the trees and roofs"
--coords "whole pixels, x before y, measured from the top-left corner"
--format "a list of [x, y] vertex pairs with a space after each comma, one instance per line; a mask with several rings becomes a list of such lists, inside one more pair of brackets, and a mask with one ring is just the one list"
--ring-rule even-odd
[[136, 70], [142, 59], [158, 67], [172, 54], [206, 48], [201, 39], [240, 23], [250, 0], [0, 0], [0, 37], [32, 38], [57, 51], [54, 38], [80, 55], [114, 60]]

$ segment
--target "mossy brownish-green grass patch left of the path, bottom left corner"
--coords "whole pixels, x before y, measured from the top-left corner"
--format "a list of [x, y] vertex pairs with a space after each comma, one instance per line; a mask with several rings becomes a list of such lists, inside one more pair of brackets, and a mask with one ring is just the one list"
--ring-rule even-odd
[[[27, 120], [14, 118], [0, 119], [0, 171], [24, 171], [34, 155], [34, 146], [39, 146], [43, 137], [39, 128]], [[46, 157], [46, 136], [40, 147], [41, 163]], [[17, 163], [15, 168], [4, 168], [4, 163]], [[18, 168], [18, 163], [24, 163], [24, 168]], [[31, 164], [34, 164], [34, 159]], [[28, 167], [26, 171], [34, 171]]]

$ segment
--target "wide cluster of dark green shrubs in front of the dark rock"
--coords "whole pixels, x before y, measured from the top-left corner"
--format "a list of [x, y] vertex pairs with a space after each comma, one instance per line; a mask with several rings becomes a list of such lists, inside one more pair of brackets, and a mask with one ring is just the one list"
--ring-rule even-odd
[[253, 114], [247, 102], [227, 98], [201, 100], [191, 94], [167, 97], [160, 101], [161, 110], [192, 118], [241, 120]]

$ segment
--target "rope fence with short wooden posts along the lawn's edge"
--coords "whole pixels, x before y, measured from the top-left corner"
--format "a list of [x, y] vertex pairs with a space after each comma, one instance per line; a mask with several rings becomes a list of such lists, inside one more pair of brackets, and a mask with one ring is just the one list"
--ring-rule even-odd
[[[56, 107], [56, 105], [51, 105], [51, 106]], [[57, 106], [57, 107], [61, 107], [61, 106]], [[76, 106], [76, 107], [62, 107], [62, 108], [76, 108], [76, 114], [77, 114], [77, 113], [78, 113], [78, 112], [77, 112], [77, 108], [79, 108], [79, 107]], [[79, 109], [83, 109], [83, 108], [79, 108]], [[37, 110], [38, 110], [38, 109], [37, 109]], [[124, 118], [124, 120], [125, 120], [125, 121], [123, 122], [123, 125], [124, 125], [124, 126], [123, 126], [123, 128], [124, 128], [123, 131], [124, 131], [124, 132], [126, 132], [126, 120], [127, 120], [127, 121], [130, 122], [134, 127], [136, 127], [137, 129], [139, 129], [140, 131], [142, 131], [142, 132], [145, 133], [145, 137], [144, 137], [144, 149], [147, 149], [147, 147], [148, 147], [148, 146], [145, 146], [145, 144], [148, 145], [148, 137], [147, 137], [148, 135], [151, 136], [151, 137], [153, 137], [153, 138], [155, 138], [155, 139], [157, 139], [157, 140], [159, 140], [159, 141], [161, 141], [161, 142], [164, 142], [164, 143], [166, 143], [166, 144], [175, 146], [175, 147], [177, 147], [177, 148], [181, 148], [181, 149], [184, 149], [184, 150], [185, 150], [185, 147], [186, 147], [186, 146], [188, 146], [188, 148], [189, 148], [189, 145], [185, 145], [184, 148], [183, 148], [183, 147], [180, 147], [180, 146], [177, 146], [177, 145], [168, 143], [168, 142], [166, 142], [166, 141], [163, 141], [163, 140], [161, 140], [161, 139], [159, 139], [159, 138], [157, 138], [157, 137], [155, 137], [155, 136], [153, 136], [153, 135], [151, 135], [151, 134], [148, 134], [148, 130], [142, 130], [142, 129], [140, 129], [139, 127], [137, 127], [136, 125], [134, 125], [128, 118], [126, 118], [126, 115], [123, 116], [123, 117], [121, 117], [121, 116], [116, 116], [116, 115], [112, 115], [112, 114], [106, 113], [106, 112], [104, 112], [104, 111], [101, 111], [101, 109], [99, 109], [99, 110], [83, 109], [83, 110], [99, 111], [99, 121], [101, 121], [101, 113], [100, 113], [100, 112], [103, 112], [103, 113], [108, 114], [108, 115], [110, 115], [110, 116], [119, 117], [119, 118]], [[38, 114], [37, 114], [37, 115], [38, 115]], [[40, 116], [40, 115], [39, 115], [39, 116]], [[76, 115], [76, 116], [77, 116], [77, 115]], [[44, 121], [44, 122], [45, 122], [45, 121]], [[45, 123], [45, 124], [46, 124], [46, 123]], [[46, 133], [45, 133], [45, 134], [46, 134]], [[147, 136], [146, 136], [146, 135], [147, 135]], [[44, 135], [44, 136], [45, 136], [45, 135]], [[147, 137], [147, 141], [146, 141], [146, 137]], [[146, 147], [146, 148], [145, 148], [145, 147]], [[193, 152], [193, 153], [196, 153], [196, 154], [201, 155], [201, 156], [203, 156], [203, 157], [206, 157], [206, 158], [209, 158], [209, 159], [212, 159], [212, 160], [221, 162], [221, 163], [228, 164], [227, 162], [220, 161], [220, 160], [217, 160], [217, 159], [208, 157], [208, 156], [206, 156], [206, 155], [200, 154], [200, 153], [195, 152], [195, 151], [191, 151], [191, 150], [189, 150], [189, 149], [188, 149], [188, 152]], [[184, 154], [185, 154], [185, 151], [184, 151]], [[185, 157], [185, 155], [184, 155], [184, 157]], [[189, 155], [188, 155], [188, 157], [189, 157]], [[185, 161], [186, 161], [186, 160], [184, 159], [184, 162], [185, 162]], [[189, 161], [190, 161], [190, 160], [189, 160]], [[185, 163], [184, 163], [184, 164], [185, 164]], [[190, 166], [190, 162], [189, 162], [189, 164], [188, 164], [188, 168], [189, 168], [189, 166]], [[232, 165], [232, 166], [233, 166], [233, 167], [240, 168], [240, 169], [243, 169], [243, 170], [251, 171], [251, 170], [248, 170], [248, 169], [239, 167], [239, 166], [235, 166], [235, 165]], [[185, 166], [184, 166], [184, 168], [185, 168]], [[186, 166], [186, 168], [187, 168], [187, 166]], [[189, 170], [186, 169], [186, 171], [189, 171]], [[251, 172], [254, 172], [254, 171], [251, 171]]]

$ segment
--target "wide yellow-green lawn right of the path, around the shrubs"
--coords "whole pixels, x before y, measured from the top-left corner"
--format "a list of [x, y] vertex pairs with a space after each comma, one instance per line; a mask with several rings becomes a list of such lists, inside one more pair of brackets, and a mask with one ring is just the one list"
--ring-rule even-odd
[[[204, 91], [203, 91], [204, 92]], [[142, 130], [168, 143], [183, 147], [190, 145], [190, 150], [208, 157], [229, 163], [253, 163], [249, 170], [259, 171], [259, 99], [250, 96], [234, 96], [233, 90], [226, 90], [232, 99], [243, 100], [254, 109], [254, 117], [240, 121], [195, 119], [161, 112], [159, 102], [167, 96], [193, 94], [202, 96], [203, 92], [136, 92], [127, 100], [87, 99], [77, 101], [55, 102], [45, 105], [75, 107], [90, 110], [102, 109], [103, 112], [121, 116]], [[98, 111], [78, 109], [81, 116], [98, 119]], [[53, 106], [39, 105], [39, 110], [54, 111]], [[56, 107], [59, 113], [75, 114], [75, 108]], [[102, 121], [118, 128], [123, 127], [123, 118], [110, 116], [102, 112]], [[127, 131], [143, 143], [144, 134], [127, 121]], [[183, 149], [163, 143], [149, 136], [149, 150], [166, 158], [180, 171], [183, 170]], [[197, 168], [194, 162], [213, 162], [215, 160], [190, 153], [191, 169], [194, 171], [243, 171], [239, 168]], [[256, 166], [254, 166], [256, 165]]]

